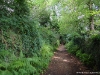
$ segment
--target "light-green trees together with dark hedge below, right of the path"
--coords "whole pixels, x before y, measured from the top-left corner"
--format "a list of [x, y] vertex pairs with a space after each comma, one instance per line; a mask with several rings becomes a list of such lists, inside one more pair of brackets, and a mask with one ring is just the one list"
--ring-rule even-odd
[[94, 71], [100, 70], [99, 0], [61, 1], [59, 31], [68, 52], [76, 55]]

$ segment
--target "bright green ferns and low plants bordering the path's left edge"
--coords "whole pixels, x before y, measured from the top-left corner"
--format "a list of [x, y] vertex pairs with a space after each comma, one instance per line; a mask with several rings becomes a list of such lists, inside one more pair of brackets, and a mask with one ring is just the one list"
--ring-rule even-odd
[[[52, 47], [43, 45], [38, 54], [25, 57], [22, 51], [16, 56], [12, 50], [0, 51], [0, 75], [39, 75], [48, 67], [51, 59]], [[39, 55], [40, 54], [40, 55]]]

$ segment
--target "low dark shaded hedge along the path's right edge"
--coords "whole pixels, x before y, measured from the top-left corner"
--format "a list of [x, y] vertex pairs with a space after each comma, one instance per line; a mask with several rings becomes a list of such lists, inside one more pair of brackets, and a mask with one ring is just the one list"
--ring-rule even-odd
[[68, 52], [76, 55], [86, 66], [94, 71], [100, 70], [99, 46], [100, 35], [95, 32], [88, 38], [76, 35], [66, 44]]

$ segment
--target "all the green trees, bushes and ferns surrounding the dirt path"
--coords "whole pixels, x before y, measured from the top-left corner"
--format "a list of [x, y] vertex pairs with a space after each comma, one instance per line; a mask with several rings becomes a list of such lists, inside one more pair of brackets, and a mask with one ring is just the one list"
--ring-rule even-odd
[[100, 70], [99, 0], [0, 0], [0, 75], [39, 75], [60, 43]]

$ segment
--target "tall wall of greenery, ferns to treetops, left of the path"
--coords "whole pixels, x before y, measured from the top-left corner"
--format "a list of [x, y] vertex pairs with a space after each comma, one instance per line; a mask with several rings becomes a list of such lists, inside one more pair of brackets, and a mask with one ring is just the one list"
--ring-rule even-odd
[[48, 67], [58, 36], [45, 26], [43, 4], [0, 0], [0, 75], [39, 75]]

